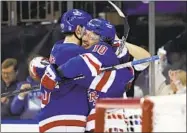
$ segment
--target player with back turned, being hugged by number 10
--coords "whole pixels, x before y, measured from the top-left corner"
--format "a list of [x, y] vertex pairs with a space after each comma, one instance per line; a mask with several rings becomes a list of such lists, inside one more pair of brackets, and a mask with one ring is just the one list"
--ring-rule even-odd
[[[50, 54], [50, 63], [60, 66], [70, 58], [85, 53], [80, 46], [83, 27], [91, 16], [78, 9], [67, 11], [61, 18], [64, 41], [57, 42]], [[84, 132], [89, 113], [87, 90], [66, 84], [50, 91], [41, 85], [42, 110], [38, 115], [40, 132]]]

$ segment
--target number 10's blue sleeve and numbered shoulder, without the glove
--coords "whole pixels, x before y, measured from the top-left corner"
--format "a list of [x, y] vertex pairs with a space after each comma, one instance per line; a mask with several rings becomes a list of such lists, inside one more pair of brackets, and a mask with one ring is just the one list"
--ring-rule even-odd
[[101, 73], [101, 67], [118, 64], [116, 55], [110, 47], [104, 44], [94, 45], [90, 53], [84, 53], [68, 60], [58, 67], [58, 72], [64, 77], [74, 78], [79, 75], [95, 77]]

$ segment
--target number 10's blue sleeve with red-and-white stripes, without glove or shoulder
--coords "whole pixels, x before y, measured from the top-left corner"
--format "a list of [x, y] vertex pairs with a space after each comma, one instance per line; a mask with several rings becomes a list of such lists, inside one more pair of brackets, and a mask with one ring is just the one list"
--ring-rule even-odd
[[101, 73], [102, 63], [94, 54], [85, 53], [70, 59], [65, 64], [58, 67], [58, 71], [63, 73], [64, 77], [74, 78], [79, 75], [97, 76]]

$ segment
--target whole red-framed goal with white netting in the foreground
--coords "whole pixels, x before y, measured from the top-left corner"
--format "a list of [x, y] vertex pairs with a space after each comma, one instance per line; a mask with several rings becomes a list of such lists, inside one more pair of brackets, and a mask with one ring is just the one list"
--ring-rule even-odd
[[95, 132], [186, 132], [186, 94], [99, 99]]

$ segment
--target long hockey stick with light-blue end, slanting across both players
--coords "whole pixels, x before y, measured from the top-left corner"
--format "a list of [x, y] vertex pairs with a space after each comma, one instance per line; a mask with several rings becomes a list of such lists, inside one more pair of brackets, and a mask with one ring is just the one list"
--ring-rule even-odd
[[[102, 68], [101, 71], [119, 70], [119, 69], [122, 69], [122, 68], [130, 67], [130, 66], [134, 66], [134, 65], [138, 65], [138, 64], [142, 64], [142, 63], [152, 62], [152, 61], [155, 61], [155, 60], [158, 60], [158, 59], [159, 59], [159, 56], [155, 55], [155, 56], [152, 56], [152, 57], [149, 57], [149, 58], [144, 58], [144, 59], [140, 59], [140, 60], [136, 60], [136, 61], [130, 61], [130, 62], [127, 62], [127, 63], [123, 63], [123, 64], [111, 66], [111, 67]], [[83, 79], [83, 78], [85, 78], [85, 76], [83, 76], [83, 75], [77, 76], [77, 77], [72, 78], [72, 79], [68, 79], [68, 78], [66, 79], [65, 78], [60, 83], [75, 81], [75, 80], [79, 80], [79, 79]], [[17, 95], [17, 94], [23, 93], [23, 92], [35, 91], [35, 90], [40, 90], [39, 86], [35, 86], [35, 87], [25, 89], [25, 90], [15, 90], [15, 91], [2, 93], [1, 98]]]

